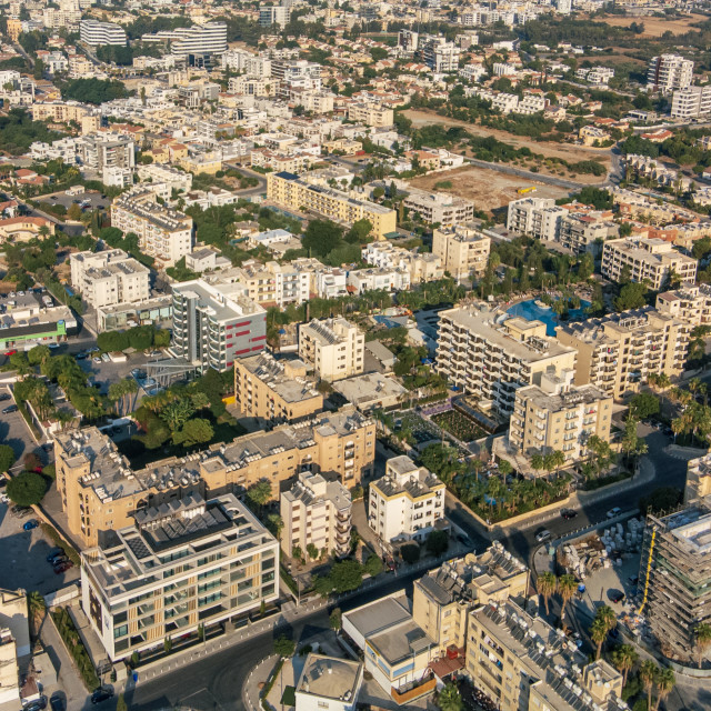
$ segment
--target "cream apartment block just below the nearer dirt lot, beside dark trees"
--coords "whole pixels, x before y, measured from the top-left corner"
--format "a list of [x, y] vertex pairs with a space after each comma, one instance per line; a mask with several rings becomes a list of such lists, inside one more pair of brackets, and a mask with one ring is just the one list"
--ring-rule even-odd
[[432, 232], [432, 253], [439, 257], [443, 270], [458, 281], [482, 274], [490, 251], [491, 238], [465, 223]]

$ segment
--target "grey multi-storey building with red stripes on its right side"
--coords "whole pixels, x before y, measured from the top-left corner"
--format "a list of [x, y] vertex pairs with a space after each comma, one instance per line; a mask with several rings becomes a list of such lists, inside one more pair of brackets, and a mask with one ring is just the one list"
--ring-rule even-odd
[[202, 279], [172, 287], [172, 348], [201, 372], [223, 371], [267, 342], [267, 312], [247, 297]]

